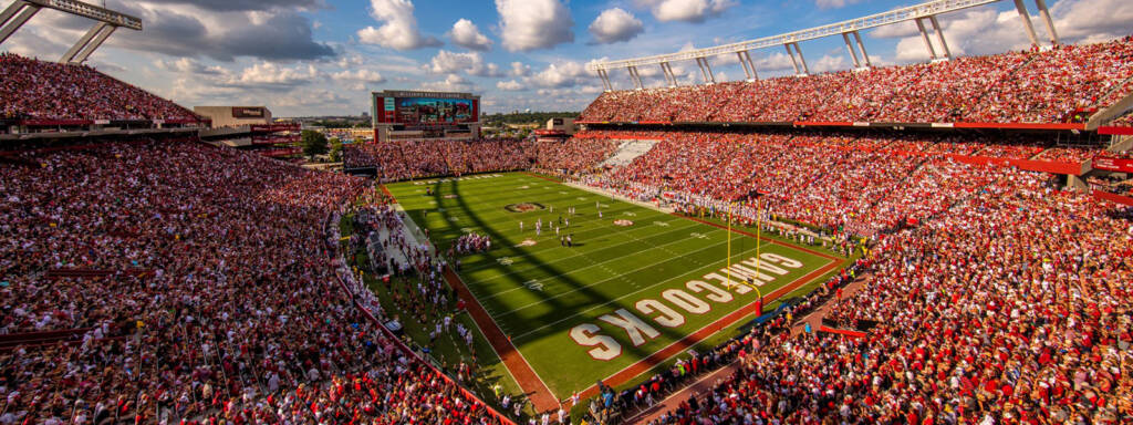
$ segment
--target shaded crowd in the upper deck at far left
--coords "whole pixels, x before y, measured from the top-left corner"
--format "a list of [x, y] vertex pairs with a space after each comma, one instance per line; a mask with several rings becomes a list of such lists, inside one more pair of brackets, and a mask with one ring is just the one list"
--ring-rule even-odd
[[0, 53], [0, 119], [191, 120], [173, 102], [83, 65]]

